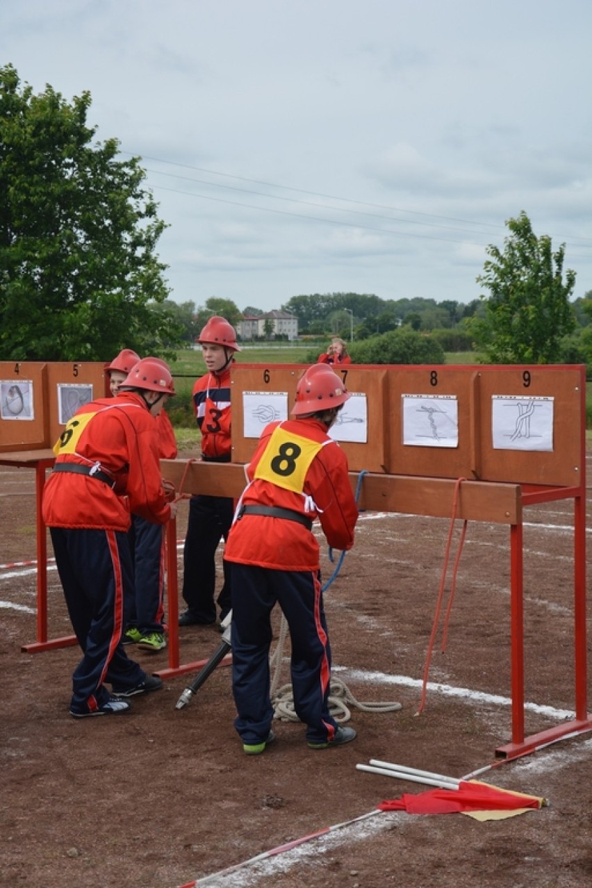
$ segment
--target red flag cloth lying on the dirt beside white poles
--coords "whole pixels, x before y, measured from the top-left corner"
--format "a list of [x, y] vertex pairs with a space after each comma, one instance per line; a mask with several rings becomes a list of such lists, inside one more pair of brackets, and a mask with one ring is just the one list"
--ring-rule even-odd
[[458, 789], [430, 789], [419, 796], [409, 793], [381, 802], [381, 811], [407, 811], [409, 814], [449, 814], [471, 811], [514, 811], [541, 808], [544, 799], [499, 789], [478, 781], [460, 781]]

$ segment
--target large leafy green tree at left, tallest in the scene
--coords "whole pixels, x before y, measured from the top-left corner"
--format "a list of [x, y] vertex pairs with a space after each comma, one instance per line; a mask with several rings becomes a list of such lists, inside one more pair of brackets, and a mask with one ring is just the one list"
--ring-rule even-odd
[[178, 340], [166, 266], [155, 247], [165, 224], [143, 187], [138, 158], [118, 142], [91, 144], [91, 95], [71, 104], [50, 85], [34, 95], [0, 67], [0, 357], [110, 360]]

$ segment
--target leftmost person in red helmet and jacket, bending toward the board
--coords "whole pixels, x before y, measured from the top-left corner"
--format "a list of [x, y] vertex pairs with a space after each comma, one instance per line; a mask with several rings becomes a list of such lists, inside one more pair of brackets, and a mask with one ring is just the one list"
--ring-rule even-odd
[[162, 487], [155, 433], [155, 416], [174, 393], [166, 365], [138, 361], [119, 394], [80, 408], [54, 448], [43, 520], [83, 649], [72, 683], [75, 718], [125, 712], [126, 698], [162, 687], [128, 658], [121, 641], [123, 600], [133, 583], [130, 515], [165, 524], [177, 508]]

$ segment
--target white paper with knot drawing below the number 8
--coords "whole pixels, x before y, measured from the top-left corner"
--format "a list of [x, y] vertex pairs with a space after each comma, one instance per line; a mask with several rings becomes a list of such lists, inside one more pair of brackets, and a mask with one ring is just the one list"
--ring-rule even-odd
[[458, 447], [456, 395], [403, 394], [403, 444], [414, 447]]

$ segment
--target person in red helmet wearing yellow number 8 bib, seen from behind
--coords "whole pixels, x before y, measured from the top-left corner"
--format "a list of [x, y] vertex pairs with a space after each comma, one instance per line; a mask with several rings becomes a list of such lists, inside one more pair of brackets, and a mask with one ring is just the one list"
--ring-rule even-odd
[[339, 746], [356, 736], [353, 728], [338, 726], [328, 710], [331, 649], [319, 543], [312, 534], [312, 520], [319, 518], [330, 546], [349, 550], [353, 545], [358, 509], [347, 458], [328, 436], [349, 397], [327, 365], [304, 372], [295, 418], [271, 423], [261, 435], [225, 546], [233, 583], [234, 726], [250, 755], [273, 740], [269, 649], [276, 602], [288, 621], [294, 703], [307, 725], [309, 747]]

